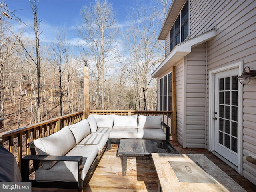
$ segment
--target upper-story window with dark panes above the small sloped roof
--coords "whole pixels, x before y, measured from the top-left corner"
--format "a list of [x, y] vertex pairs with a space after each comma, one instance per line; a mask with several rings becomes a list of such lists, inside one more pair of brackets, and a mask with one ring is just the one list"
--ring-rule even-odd
[[183, 42], [188, 37], [188, 34], [189, 34], [188, 24], [189, 24], [189, 9], [188, 9], [188, 1], [187, 1], [170, 30], [170, 52], [172, 51], [174, 46]]

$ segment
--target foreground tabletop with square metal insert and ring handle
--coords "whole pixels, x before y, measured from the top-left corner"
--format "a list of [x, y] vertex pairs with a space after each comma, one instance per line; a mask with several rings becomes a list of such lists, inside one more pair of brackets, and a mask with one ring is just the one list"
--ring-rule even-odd
[[162, 192], [246, 192], [203, 154], [151, 155]]

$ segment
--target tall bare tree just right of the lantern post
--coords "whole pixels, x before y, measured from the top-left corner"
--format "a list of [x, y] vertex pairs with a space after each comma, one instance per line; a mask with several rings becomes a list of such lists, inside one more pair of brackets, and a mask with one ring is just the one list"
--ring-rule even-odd
[[[116, 53], [116, 37], [118, 27], [115, 22], [112, 4], [108, 1], [96, 1], [90, 7], [82, 8], [80, 12], [83, 23], [78, 27], [80, 37], [85, 43], [80, 42], [84, 54], [91, 58], [91, 64], [95, 64], [96, 71], [92, 75], [96, 78], [96, 108], [104, 110], [104, 96], [106, 93], [104, 83], [108, 74], [107, 64]], [[100, 102], [98, 99], [100, 97]]]

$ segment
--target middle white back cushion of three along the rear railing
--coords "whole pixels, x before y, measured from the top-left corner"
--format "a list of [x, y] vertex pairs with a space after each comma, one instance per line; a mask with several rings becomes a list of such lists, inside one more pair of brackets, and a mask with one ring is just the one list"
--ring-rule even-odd
[[113, 128], [138, 128], [137, 115], [115, 115]]

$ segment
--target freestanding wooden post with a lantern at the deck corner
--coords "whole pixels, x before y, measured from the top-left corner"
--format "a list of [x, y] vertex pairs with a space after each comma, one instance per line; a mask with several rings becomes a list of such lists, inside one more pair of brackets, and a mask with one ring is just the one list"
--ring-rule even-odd
[[84, 115], [83, 119], [89, 116], [89, 68], [84, 66]]

